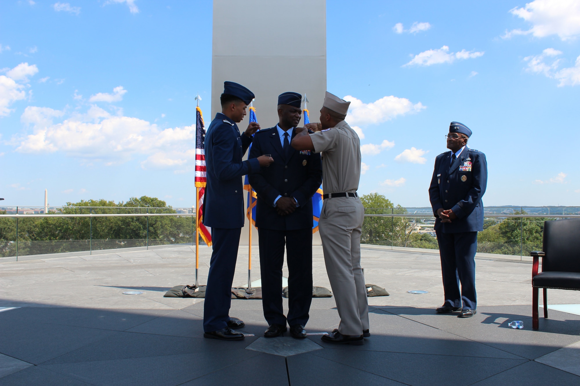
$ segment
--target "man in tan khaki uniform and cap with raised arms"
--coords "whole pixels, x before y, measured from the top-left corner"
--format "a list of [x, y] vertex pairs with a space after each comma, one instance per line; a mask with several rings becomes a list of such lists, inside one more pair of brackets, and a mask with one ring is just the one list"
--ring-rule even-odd
[[[327, 343], [363, 344], [370, 336], [367, 290], [361, 268], [360, 239], [364, 207], [357, 195], [361, 170], [360, 140], [345, 122], [350, 102], [326, 93], [320, 123], [297, 128], [296, 150], [322, 152], [324, 205], [318, 221], [324, 261], [340, 316], [338, 329], [322, 336]], [[308, 134], [307, 129], [315, 130]]]

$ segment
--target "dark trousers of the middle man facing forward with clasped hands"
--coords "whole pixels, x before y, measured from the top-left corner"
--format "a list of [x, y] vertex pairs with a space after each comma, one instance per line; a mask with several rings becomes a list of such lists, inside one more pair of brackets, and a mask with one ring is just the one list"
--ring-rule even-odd
[[[274, 231], [259, 228], [262, 307], [268, 325], [306, 326], [312, 303], [312, 228]], [[284, 245], [288, 263], [288, 318], [282, 308]]]

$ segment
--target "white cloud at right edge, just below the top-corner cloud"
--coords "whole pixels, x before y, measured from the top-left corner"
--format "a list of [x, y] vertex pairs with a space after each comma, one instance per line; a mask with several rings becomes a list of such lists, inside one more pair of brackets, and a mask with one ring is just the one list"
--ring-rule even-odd
[[539, 55], [524, 57], [524, 60], [528, 62], [526, 70], [543, 74], [548, 78], [558, 79], [560, 81], [558, 87], [580, 85], [580, 56], [577, 57], [574, 67], [562, 68], [560, 71], [557, 71], [557, 68], [562, 59], [549, 59], [546, 63], [546, 59], [561, 54], [562, 52], [559, 50], [546, 48]]

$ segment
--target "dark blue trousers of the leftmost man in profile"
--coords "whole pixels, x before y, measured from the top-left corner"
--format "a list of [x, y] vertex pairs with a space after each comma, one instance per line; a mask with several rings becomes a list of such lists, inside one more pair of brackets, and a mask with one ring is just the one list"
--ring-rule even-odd
[[234, 281], [242, 228], [212, 228], [212, 259], [205, 289], [204, 331], [227, 326], [230, 320], [231, 284]]

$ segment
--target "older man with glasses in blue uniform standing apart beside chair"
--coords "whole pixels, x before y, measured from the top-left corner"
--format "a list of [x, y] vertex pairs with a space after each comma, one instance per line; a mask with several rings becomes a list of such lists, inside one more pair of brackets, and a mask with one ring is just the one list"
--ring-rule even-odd
[[463, 123], [451, 122], [446, 136], [451, 151], [435, 158], [429, 187], [445, 292], [445, 304], [436, 311], [461, 310], [458, 318], [476, 314], [474, 258], [477, 232], [483, 231], [481, 197], [487, 185], [485, 154], [467, 147], [471, 135], [472, 130]]

